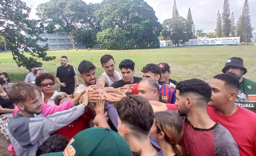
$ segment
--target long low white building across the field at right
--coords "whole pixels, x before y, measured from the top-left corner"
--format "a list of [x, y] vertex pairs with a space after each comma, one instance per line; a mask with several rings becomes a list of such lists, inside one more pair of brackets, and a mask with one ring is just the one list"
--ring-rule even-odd
[[[240, 37], [221, 37], [208, 38], [198, 37], [197, 39], [190, 39], [186, 43], [179, 44], [179, 46], [220, 46], [220, 45], [240, 45]], [[175, 46], [172, 41], [160, 41], [160, 47]]]

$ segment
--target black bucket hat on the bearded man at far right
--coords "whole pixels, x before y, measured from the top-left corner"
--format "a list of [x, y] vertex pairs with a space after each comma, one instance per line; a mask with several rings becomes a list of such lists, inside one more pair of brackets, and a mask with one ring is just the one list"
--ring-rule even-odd
[[247, 69], [244, 67], [244, 61], [240, 57], [231, 57], [227, 59], [224, 68], [221, 70], [223, 73], [226, 72], [228, 66], [235, 66], [235, 67], [240, 67], [244, 70], [243, 75], [247, 72]]

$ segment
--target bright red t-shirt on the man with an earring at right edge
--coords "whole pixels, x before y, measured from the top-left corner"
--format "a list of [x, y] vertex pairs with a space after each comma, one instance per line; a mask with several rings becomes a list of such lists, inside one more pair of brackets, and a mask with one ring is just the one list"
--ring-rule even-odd
[[207, 106], [211, 119], [222, 124], [232, 134], [239, 146], [241, 156], [256, 155], [256, 114], [238, 107], [233, 115], [220, 115], [213, 107]]

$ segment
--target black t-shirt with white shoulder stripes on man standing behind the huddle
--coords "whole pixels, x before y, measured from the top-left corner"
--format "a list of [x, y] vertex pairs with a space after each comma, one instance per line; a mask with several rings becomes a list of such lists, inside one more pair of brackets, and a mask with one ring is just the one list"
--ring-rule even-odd
[[76, 70], [71, 65], [59, 66], [56, 71], [56, 77], [60, 78], [61, 83], [66, 83], [66, 88], [75, 87], [75, 75], [77, 75]]

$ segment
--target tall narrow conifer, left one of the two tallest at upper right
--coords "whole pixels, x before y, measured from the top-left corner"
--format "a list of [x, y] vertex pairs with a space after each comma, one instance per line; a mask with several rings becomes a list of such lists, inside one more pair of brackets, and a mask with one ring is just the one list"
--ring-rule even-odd
[[229, 37], [231, 32], [230, 6], [229, 0], [224, 0], [222, 11], [222, 37]]

